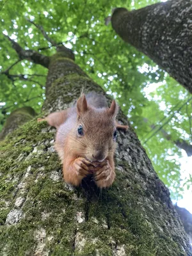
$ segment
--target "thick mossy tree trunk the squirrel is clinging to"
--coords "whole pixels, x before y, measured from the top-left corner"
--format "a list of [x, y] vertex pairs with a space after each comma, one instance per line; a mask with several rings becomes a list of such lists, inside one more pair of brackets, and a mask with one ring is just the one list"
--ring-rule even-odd
[[[58, 52], [44, 111], [68, 108], [82, 88], [104, 94]], [[1, 255], [192, 255], [169, 191], [131, 129], [118, 136], [116, 181], [102, 191], [93, 181], [63, 181], [54, 133], [33, 120], [1, 142]]]

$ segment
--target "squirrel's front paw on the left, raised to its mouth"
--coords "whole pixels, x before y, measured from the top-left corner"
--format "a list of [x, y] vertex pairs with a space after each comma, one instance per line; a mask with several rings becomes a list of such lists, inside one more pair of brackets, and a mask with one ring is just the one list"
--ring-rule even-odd
[[74, 161], [74, 168], [76, 169], [77, 175], [83, 178], [92, 173], [92, 171], [89, 170], [90, 166], [92, 166], [92, 164], [83, 157], [79, 157]]

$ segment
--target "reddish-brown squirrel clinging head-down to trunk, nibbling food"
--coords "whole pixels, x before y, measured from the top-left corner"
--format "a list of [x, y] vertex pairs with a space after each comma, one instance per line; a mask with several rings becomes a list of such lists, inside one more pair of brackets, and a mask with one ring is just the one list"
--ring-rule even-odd
[[128, 125], [116, 122], [117, 113], [115, 100], [108, 108], [103, 95], [90, 92], [82, 94], [72, 108], [38, 118], [38, 122], [45, 120], [57, 129], [55, 148], [66, 182], [79, 186], [92, 174], [99, 188], [111, 186], [115, 179], [116, 129], [128, 129]]

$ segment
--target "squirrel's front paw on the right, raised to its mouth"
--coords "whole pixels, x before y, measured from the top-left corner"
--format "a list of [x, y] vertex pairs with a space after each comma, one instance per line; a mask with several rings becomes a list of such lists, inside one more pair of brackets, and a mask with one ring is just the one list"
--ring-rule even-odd
[[97, 166], [100, 169], [94, 173], [95, 182], [99, 188], [106, 188], [111, 186], [115, 179], [115, 172], [109, 165], [109, 161], [105, 160]]

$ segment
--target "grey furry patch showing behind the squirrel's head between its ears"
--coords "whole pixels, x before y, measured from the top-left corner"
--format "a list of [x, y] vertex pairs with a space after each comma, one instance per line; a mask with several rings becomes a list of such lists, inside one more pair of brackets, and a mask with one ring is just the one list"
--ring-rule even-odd
[[95, 108], [107, 108], [108, 102], [104, 95], [97, 92], [89, 92], [85, 95], [88, 104]]

